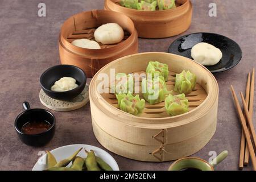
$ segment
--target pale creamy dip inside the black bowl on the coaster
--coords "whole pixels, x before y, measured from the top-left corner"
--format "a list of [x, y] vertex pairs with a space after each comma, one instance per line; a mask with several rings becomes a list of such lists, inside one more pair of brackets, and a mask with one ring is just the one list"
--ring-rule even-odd
[[63, 77], [56, 81], [51, 87], [52, 91], [65, 92], [77, 88], [76, 79], [72, 77]]

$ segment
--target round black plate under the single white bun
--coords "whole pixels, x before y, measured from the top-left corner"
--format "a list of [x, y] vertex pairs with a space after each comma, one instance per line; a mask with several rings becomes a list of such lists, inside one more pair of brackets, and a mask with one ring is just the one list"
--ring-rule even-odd
[[231, 69], [242, 59], [242, 50], [234, 40], [223, 35], [203, 32], [185, 35], [176, 39], [169, 47], [168, 52], [192, 59], [192, 47], [201, 42], [212, 44], [222, 52], [223, 56], [218, 64], [206, 66], [212, 73], [223, 72]]

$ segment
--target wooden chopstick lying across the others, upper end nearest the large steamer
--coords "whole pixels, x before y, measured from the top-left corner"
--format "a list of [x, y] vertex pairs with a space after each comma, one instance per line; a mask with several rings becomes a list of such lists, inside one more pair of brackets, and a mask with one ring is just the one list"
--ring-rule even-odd
[[236, 105], [237, 113], [240, 117], [240, 122], [241, 122], [241, 125], [242, 125], [242, 128], [243, 128], [243, 133], [245, 134], [245, 139], [246, 139], [249, 154], [250, 154], [250, 157], [251, 157], [251, 162], [253, 163], [253, 169], [254, 169], [254, 171], [256, 171], [256, 156], [255, 156], [255, 152], [254, 152], [254, 148], [253, 148], [253, 143], [251, 143], [249, 130], [247, 129], [247, 126], [246, 126], [245, 117], [243, 117], [242, 109], [241, 109], [241, 106], [238, 102], [237, 95], [234, 91], [233, 86], [231, 85], [230, 88], [231, 88], [232, 95], [233, 95], [233, 98], [234, 98], [234, 103]]

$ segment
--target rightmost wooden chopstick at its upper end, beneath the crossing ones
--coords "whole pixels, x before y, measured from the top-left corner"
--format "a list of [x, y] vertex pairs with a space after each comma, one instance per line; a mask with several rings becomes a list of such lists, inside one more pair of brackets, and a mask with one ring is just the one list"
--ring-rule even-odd
[[[249, 113], [250, 113], [251, 119], [253, 118], [254, 76], [255, 76], [255, 69], [253, 68], [253, 73], [251, 74], [250, 101], [249, 101]], [[247, 166], [248, 163], [249, 163], [249, 151], [248, 151], [247, 145], [245, 145], [245, 159], [244, 159], [245, 166]]]

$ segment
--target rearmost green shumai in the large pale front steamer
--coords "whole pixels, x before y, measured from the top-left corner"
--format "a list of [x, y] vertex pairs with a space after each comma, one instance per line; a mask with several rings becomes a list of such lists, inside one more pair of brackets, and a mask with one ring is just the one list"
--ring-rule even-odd
[[159, 63], [158, 61], [150, 61], [147, 65], [146, 73], [151, 73], [152, 78], [155, 74], [158, 74], [159, 76], [164, 77], [164, 81], [167, 81], [169, 75], [168, 65]]

